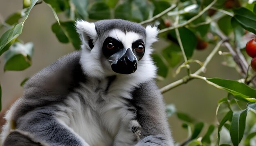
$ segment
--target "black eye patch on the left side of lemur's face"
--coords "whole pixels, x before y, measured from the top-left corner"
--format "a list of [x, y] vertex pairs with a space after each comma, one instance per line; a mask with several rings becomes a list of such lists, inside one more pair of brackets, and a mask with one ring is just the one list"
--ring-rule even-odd
[[[111, 46], [111, 47], [110, 47]], [[117, 53], [120, 49], [123, 49], [124, 46], [119, 40], [116, 40], [115, 38], [108, 37], [103, 42], [102, 51], [103, 55], [106, 58], [109, 58], [111, 55]]]

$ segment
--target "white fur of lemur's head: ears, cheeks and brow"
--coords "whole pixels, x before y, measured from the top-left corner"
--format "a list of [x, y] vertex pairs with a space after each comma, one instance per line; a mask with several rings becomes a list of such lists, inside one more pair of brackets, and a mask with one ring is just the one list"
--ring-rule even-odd
[[[157, 27], [146, 27], [146, 40], [141, 37], [140, 34], [135, 32], [126, 32], [119, 29], [110, 30], [106, 38], [112, 37], [117, 40], [120, 40], [125, 49], [131, 48], [132, 42], [136, 40], [142, 39], [145, 41], [145, 53], [143, 58], [138, 61], [137, 71], [135, 73], [131, 73], [129, 75], [118, 74], [112, 71], [111, 65], [107, 59], [102, 54], [102, 44], [106, 38], [101, 38], [97, 34], [95, 30], [95, 25], [93, 23], [89, 23], [86, 21], [78, 21], [76, 22], [76, 29], [77, 32], [80, 34], [80, 38], [82, 40], [82, 54], [81, 54], [81, 64], [85, 74], [91, 77], [97, 78], [105, 78], [110, 75], [117, 75], [122, 77], [136, 77], [141, 81], [145, 81], [147, 79], [154, 78], [156, 75], [156, 67], [150, 57], [151, 52], [151, 45], [157, 41], [157, 34], [158, 30]], [[104, 40], [99, 40], [104, 39]], [[94, 48], [90, 49], [88, 45], [88, 39], [92, 39], [94, 42]]]

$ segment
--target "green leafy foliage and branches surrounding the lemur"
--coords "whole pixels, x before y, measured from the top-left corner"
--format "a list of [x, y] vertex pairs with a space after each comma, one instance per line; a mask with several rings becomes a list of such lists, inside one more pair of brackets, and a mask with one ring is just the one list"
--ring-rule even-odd
[[[23, 0], [23, 9], [11, 14], [2, 24], [7, 31], [1, 34], [0, 55], [4, 55], [4, 71], [20, 71], [31, 66], [33, 44], [18, 40], [29, 12], [42, 0]], [[158, 66], [159, 79], [180, 73], [186, 68], [187, 75], [161, 89], [162, 93], [189, 82], [204, 80], [216, 88], [227, 91], [227, 97], [218, 102], [216, 116], [218, 124], [207, 125], [167, 105], [168, 116], [177, 116], [188, 131], [188, 137], [178, 145], [187, 146], [229, 146], [238, 144], [250, 146], [255, 142], [256, 127], [256, 74], [249, 67], [243, 54], [249, 34], [256, 34], [256, 4], [245, 0], [43, 0], [52, 9], [56, 23], [52, 31], [61, 43], [72, 43], [80, 49], [80, 39], [74, 28], [74, 20], [101, 20], [120, 18], [139, 22], [146, 26], [157, 25], [159, 38], [167, 43], [157, 48], [152, 55]], [[64, 13], [65, 20], [58, 15]], [[20, 21], [21, 20], [21, 21]], [[254, 35], [255, 36], [255, 35]], [[179, 41], [181, 40], [181, 41]], [[203, 44], [201, 44], [203, 43]], [[202, 62], [193, 58], [196, 49], [207, 49], [208, 44], [216, 47]], [[224, 44], [228, 51], [220, 49]], [[206, 78], [200, 74], [206, 71], [213, 55], [219, 51], [226, 66], [237, 69], [242, 80]], [[194, 73], [190, 64], [198, 63]], [[22, 81], [21, 86], [27, 78]], [[0, 88], [1, 97], [1, 88]], [[207, 131], [204, 132], [204, 128]], [[230, 141], [223, 142], [223, 139]], [[216, 137], [216, 138], [213, 138]]]

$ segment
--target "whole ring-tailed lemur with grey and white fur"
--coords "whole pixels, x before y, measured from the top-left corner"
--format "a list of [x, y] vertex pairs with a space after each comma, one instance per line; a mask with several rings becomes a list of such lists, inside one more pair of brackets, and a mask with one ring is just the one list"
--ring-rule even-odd
[[156, 27], [76, 22], [76, 51], [25, 84], [2, 132], [4, 146], [173, 146], [150, 57]]

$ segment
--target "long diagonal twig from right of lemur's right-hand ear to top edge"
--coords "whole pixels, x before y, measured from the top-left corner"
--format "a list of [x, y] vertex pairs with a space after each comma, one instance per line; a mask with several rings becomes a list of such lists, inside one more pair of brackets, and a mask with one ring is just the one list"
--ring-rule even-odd
[[211, 2], [211, 4], [209, 4], [207, 7], [205, 7], [202, 11], [200, 11], [200, 13], [198, 13], [198, 15], [195, 15], [194, 17], [192, 17], [191, 19], [189, 19], [188, 21], [182, 23], [182, 24], [178, 24], [176, 26], [173, 26], [173, 27], [168, 27], [168, 28], [165, 28], [165, 29], [161, 29], [159, 31], [159, 33], [163, 33], [163, 32], [166, 32], [166, 31], [170, 31], [170, 30], [173, 30], [173, 29], [177, 29], [177, 28], [180, 28], [180, 27], [184, 27], [186, 26], [187, 24], [191, 23], [192, 21], [196, 20], [197, 18], [199, 18], [202, 14], [204, 14], [207, 10], [209, 10], [213, 4], [215, 4], [217, 2], [217, 0], [213, 0], [213, 2]]

